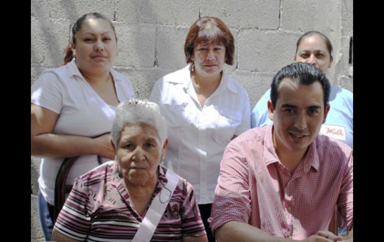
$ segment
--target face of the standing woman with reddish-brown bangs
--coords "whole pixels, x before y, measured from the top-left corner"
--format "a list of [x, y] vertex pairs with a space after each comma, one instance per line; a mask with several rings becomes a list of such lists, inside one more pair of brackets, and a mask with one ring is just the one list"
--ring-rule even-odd
[[217, 77], [225, 62], [225, 46], [221, 43], [198, 44], [193, 48], [194, 70], [202, 77]]

